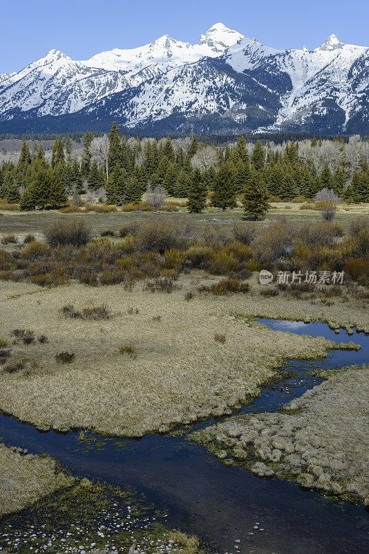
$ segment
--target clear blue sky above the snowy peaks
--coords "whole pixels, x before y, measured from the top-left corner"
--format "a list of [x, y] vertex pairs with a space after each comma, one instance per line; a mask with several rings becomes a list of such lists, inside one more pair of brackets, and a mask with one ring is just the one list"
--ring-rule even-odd
[[319, 46], [335, 33], [369, 46], [367, 0], [16, 0], [0, 3], [0, 73], [56, 48], [75, 60], [168, 33], [197, 42], [222, 21], [276, 48]]

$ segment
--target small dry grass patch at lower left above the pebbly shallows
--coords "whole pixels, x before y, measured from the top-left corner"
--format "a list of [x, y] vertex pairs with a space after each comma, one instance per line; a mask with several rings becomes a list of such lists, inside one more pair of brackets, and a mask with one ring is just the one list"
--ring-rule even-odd
[[73, 481], [49, 456], [25, 456], [0, 443], [0, 516], [26, 508]]

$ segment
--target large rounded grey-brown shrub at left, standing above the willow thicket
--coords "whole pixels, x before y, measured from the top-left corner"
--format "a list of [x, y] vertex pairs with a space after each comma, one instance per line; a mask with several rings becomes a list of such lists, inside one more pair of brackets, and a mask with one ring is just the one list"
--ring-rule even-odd
[[44, 235], [51, 247], [65, 244], [81, 247], [91, 240], [91, 230], [83, 220], [55, 222], [46, 227]]

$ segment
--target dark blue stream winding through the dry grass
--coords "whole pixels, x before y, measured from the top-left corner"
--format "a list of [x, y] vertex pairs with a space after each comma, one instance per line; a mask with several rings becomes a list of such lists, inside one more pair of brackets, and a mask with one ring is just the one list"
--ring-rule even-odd
[[[300, 396], [321, 382], [308, 375], [312, 368], [339, 368], [369, 361], [369, 338], [363, 334], [335, 334], [322, 323], [260, 321], [276, 330], [322, 336], [337, 343], [354, 341], [361, 344], [361, 350], [334, 350], [325, 359], [291, 361], [283, 367], [290, 374], [265, 388], [260, 397], [243, 407], [243, 412], [276, 411]], [[369, 551], [369, 518], [361, 506], [301, 490], [293, 483], [260, 479], [245, 470], [225, 467], [184, 436], [106, 440], [86, 434], [88, 441], [81, 442], [78, 432], [41, 433], [6, 416], [0, 416], [0, 436], [6, 444], [32, 453], [47, 452], [78, 476], [132, 485], [159, 509], [169, 510], [169, 526], [196, 533], [215, 552], [236, 554], [235, 539], [240, 539], [238, 552], [248, 554]], [[255, 524], [258, 529], [254, 529]]]

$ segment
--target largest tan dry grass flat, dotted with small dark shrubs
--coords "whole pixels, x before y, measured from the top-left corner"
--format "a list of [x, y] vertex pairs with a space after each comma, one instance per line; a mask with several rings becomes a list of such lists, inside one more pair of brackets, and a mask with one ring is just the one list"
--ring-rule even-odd
[[[32, 364], [2, 372], [0, 409], [39, 429], [142, 436], [231, 413], [257, 395], [285, 359], [325, 355], [330, 346], [324, 339], [275, 332], [236, 316], [281, 316], [283, 311], [296, 316], [294, 301], [279, 310], [278, 299], [258, 295], [201, 294], [196, 302], [187, 302], [183, 289], [191, 282], [193, 276], [182, 278], [182, 289], [172, 294], [144, 292], [138, 286], [129, 292], [122, 285], [92, 293], [77, 284], [35, 291], [22, 283], [12, 283], [9, 294], [8, 282], [1, 282], [0, 336], [10, 337], [22, 325], [48, 341], [12, 345], [7, 363], [28, 357]], [[114, 318], [86, 321], [61, 314], [64, 305], [81, 311], [91, 296], [95, 305], [114, 306]], [[134, 316], [132, 305], [138, 310]], [[227, 337], [221, 346], [214, 332]], [[137, 359], [122, 355], [122, 345], [133, 346]], [[75, 354], [73, 362], [57, 364], [59, 352]]]

